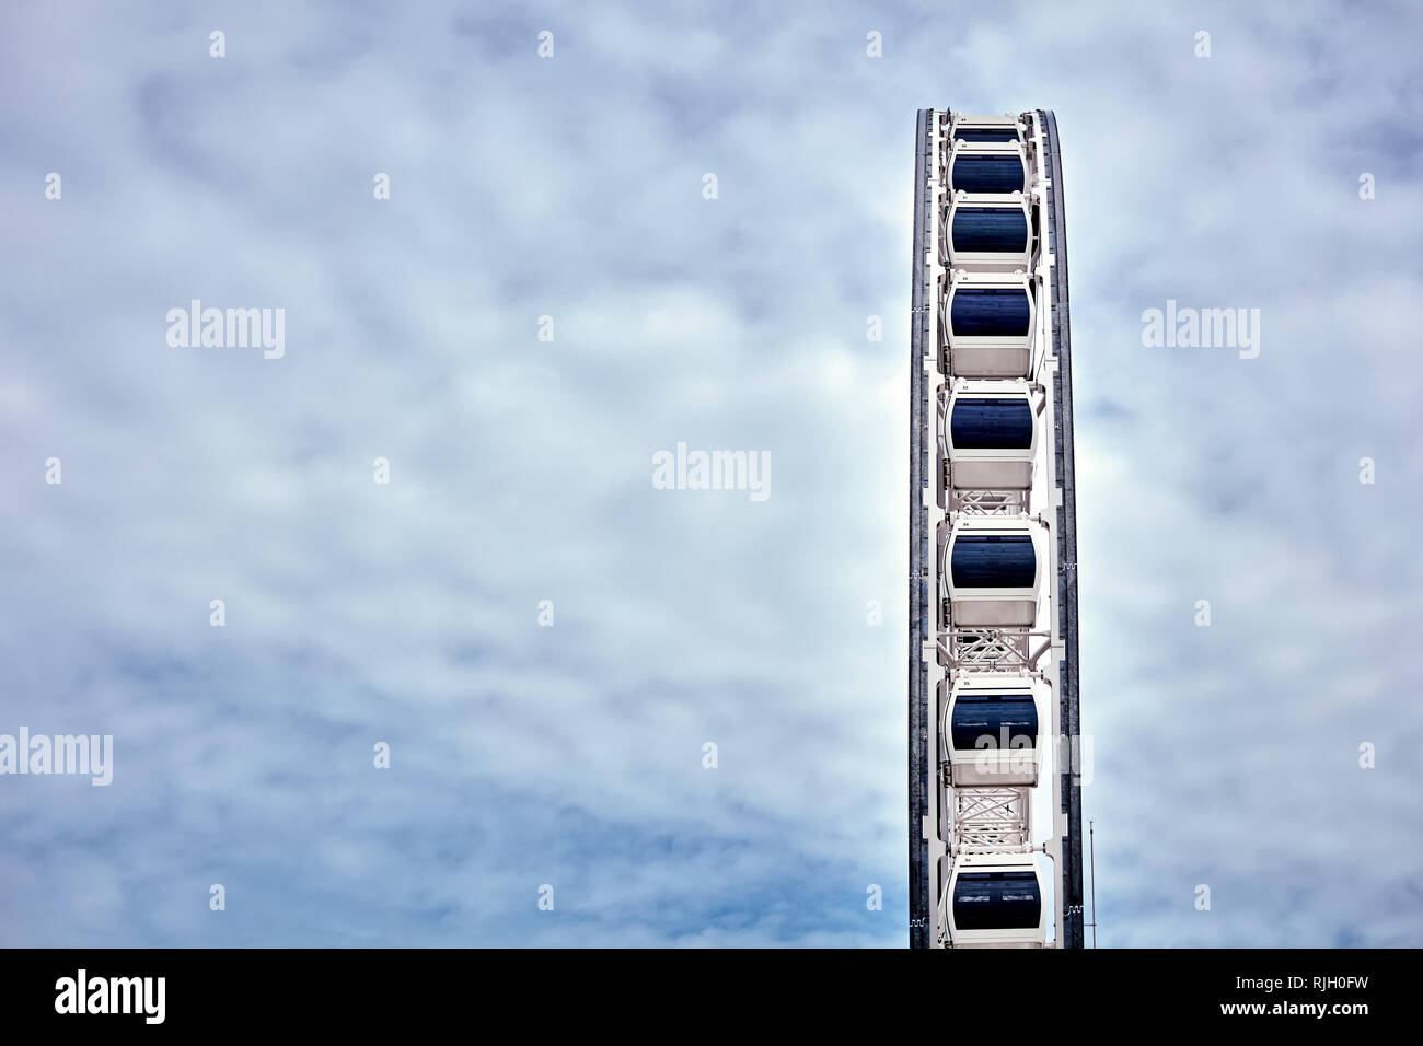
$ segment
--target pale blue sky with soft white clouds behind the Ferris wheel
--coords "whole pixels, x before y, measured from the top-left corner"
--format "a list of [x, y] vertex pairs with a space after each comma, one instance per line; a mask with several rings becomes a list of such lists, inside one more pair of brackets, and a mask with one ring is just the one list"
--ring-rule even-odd
[[0, 944], [902, 946], [919, 107], [1063, 135], [1099, 944], [1423, 944], [1423, 16], [1067, 7], [6, 4]]

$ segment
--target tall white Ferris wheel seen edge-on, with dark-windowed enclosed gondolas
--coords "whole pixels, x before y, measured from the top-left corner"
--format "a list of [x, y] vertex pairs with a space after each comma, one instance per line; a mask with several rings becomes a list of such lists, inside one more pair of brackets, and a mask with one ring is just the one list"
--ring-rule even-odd
[[912, 273], [909, 941], [1081, 948], [1072, 340], [1050, 111], [919, 111]]

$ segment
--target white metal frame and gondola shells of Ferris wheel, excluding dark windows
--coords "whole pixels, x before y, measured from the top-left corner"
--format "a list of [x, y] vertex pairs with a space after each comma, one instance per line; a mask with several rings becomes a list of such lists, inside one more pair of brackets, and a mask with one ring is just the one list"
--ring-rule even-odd
[[[938, 729], [924, 743], [932, 776], [924, 818], [933, 878], [929, 941], [953, 948], [1056, 946], [1062, 941], [1062, 909], [1054, 904], [1057, 879], [1043, 874], [1046, 857], [1057, 854], [1059, 731], [1057, 673], [1062, 657], [1054, 602], [1057, 598], [1056, 475], [1053, 463], [1053, 258], [1046, 250], [1042, 201], [1049, 191], [1044, 130], [1036, 114], [969, 117], [935, 112], [935, 161], [929, 188], [933, 228], [924, 259], [929, 270], [931, 342], [922, 360], [932, 414], [938, 427], [933, 445], [935, 487], [928, 498], [929, 534], [936, 539], [926, 564], [928, 591], [938, 593], [935, 639], [924, 645], [928, 693], [935, 694]], [[958, 138], [970, 131], [1015, 131], [1007, 142]], [[962, 157], [1017, 157], [1025, 169], [1022, 192], [959, 194], [953, 164]], [[1022, 253], [955, 250], [949, 231], [963, 206], [1015, 209], [1029, 222], [1029, 245]], [[1020, 287], [1027, 295], [1025, 336], [956, 336], [949, 329], [955, 295], [969, 287]], [[1025, 398], [1033, 408], [1033, 438], [1027, 448], [956, 448], [949, 423], [961, 397]], [[1027, 515], [1029, 511], [1037, 515]], [[968, 535], [1026, 535], [1035, 552], [1033, 585], [1026, 589], [955, 586], [951, 576], [955, 542]], [[993, 692], [1032, 694], [1037, 712], [1037, 743], [1015, 764], [1012, 751], [956, 751], [948, 727], [955, 697]], [[1020, 753], [1019, 753], [1020, 754]], [[976, 760], [976, 761], [975, 761]], [[1035, 797], [1037, 803], [1035, 803]], [[1039, 817], [1035, 817], [1039, 811]], [[1035, 840], [1043, 840], [1035, 842]], [[961, 928], [953, 914], [953, 891], [961, 877], [978, 882], [976, 872], [1030, 871], [1040, 899], [1035, 926]], [[1060, 872], [1059, 872], [1060, 874]], [[1013, 878], [1012, 882], [1022, 879]], [[985, 904], [993, 901], [965, 901]], [[1005, 902], [1012, 907], [1009, 902]], [[1013, 901], [1012, 904], [1022, 904]], [[1053, 907], [1054, 932], [1047, 929]], [[962, 907], [962, 905], [961, 905]], [[968, 911], [968, 909], [965, 909]], [[1019, 912], [1023, 909], [1019, 907]], [[978, 922], [983, 922], [978, 919]]]

